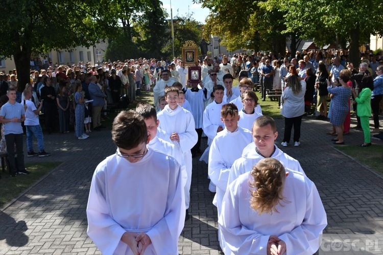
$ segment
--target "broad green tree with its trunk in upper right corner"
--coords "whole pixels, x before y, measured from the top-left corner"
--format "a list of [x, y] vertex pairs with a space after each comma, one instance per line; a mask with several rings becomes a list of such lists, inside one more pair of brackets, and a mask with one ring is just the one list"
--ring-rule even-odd
[[286, 12], [286, 31], [299, 31], [317, 45], [334, 41], [350, 43], [348, 60], [360, 62], [358, 47], [369, 42], [370, 34], [383, 34], [380, 0], [268, 0]]

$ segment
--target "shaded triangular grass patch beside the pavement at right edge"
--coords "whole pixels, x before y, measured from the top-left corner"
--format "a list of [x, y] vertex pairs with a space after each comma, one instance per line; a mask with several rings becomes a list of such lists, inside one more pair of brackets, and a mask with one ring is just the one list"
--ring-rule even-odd
[[370, 147], [361, 148], [355, 145], [335, 146], [348, 156], [356, 159], [371, 169], [383, 173], [383, 145], [373, 144]]

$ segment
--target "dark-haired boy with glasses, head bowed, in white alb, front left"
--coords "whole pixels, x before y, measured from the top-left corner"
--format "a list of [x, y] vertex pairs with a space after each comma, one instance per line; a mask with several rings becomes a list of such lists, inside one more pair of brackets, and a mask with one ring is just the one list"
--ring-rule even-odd
[[123, 111], [113, 121], [116, 153], [94, 171], [88, 236], [103, 254], [178, 254], [184, 226], [181, 166], [147, 147], [143, 118]]

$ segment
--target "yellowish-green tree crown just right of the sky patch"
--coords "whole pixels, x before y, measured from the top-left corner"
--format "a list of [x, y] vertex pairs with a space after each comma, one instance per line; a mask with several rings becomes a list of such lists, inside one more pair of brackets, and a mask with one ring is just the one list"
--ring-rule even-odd
[[244, 0], [238, 8], [233, 0], [195, 0], [209, 8], [204, 38], [210, 34], [223, 38], [222, 44], [228, 50], [246, 48], [253, 50], [270, 50], [284, 53], [285, 29], [282, 22], [283, 13], [275, 6], [262, 5], [263, 2]]

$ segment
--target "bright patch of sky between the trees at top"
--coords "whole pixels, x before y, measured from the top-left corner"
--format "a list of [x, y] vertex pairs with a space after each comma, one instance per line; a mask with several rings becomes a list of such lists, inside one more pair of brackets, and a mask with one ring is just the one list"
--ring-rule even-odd
[[[163, 8], [170, 18], [170, 0], [162, 0]], [[205, 18], [209, 15], [209, 9], [202, 8], [201, 4], [193, 4], [193, 0], [172, 0], [173, 17], [177, 15], [186, 16], [187, 13], [194, 12], [192, 16], [195, 20], [205, 23]]]

